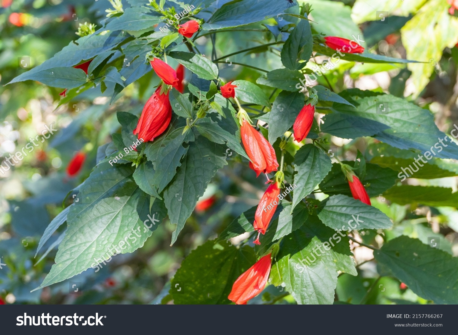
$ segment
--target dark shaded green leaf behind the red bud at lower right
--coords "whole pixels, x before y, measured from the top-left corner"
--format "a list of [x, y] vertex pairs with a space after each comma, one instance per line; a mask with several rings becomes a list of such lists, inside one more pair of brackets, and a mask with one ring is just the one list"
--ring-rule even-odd
[[[343, 161], [343, 163], [354, 166], [354, 162]], [[360, 177], [361, 183], [365, 186], [369, 197], [382, 194], [396, 183], [396, 172], [391, 169], [382, 168], [376, 164], [366, 163], [366, 175]], [[320, 183], [320, 190], [326, 194], [345, 194], [351, 197], [348, 181], [342, 173], [340, 164], [333, 164], [331, 172]]]

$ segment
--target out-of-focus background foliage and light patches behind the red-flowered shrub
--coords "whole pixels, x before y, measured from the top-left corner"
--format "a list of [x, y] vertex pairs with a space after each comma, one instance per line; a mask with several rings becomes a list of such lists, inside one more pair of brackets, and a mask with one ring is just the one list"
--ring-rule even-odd
[[[130, 1], [133, 0], [122, 2], [128, 6]], [[215, 1], [207, 11], [214, 11], [226, 2]], [[431, 14], [432, 11], [440, 12], [438, 8], [450, 7], [446, 0], [299, 2], [312, 5], [310, 18], [315, 32], [352, 38], [353, 32], [360, 29], [365, 41], [363, 45], [371, 52], [425, 62], [362, 64], [341, 60], [327, 74], [328, 82], [319, 77], [320, 85], [331, 85], [336, 92], [351, 87], [389, 92], [429, 108], [441, 131], [449, 133], [453, 124], [458, 124], [457, 18], [450, 14], [447, 17]], [[0, 172], [0, 261], [6, 264], [0, 270], [0, 298], [6, 303], [169, 303], [170, 279], [184, 257], [207, 239], [216, 238], [240, 213], [255, 206], [265, 187], [263, 180], [254, 178], [251, 170], [240, 164], [234, 154], [229, 157], [229, 165], [218, 172], [207, 188], [201, 199], [207, 201], [198, 203], [174, 247], [169, 247], [174, 226], [164, 222], [141, 249], [117, 255], [97, 273], [88, 269], [69, 281], [31, 293], [54, 264], [55, 245], [65, 227], [60, 227], [35, 256], [44, 229], [73, 201], [69, 191], [90, 174], [97, 148], [111, 142], [111, 133], [120, 131], [116, 112], [139, 115], [158, 84], [158, 78], [153, 76], [153, 71], [148, 72], [128, 85], [113, 101], [114, 84], [107, 85], [104, 93], [98, 87], [91, 87], [63, 104], [60, 104], [61, 90], [38, 82], [4, 86], [76, 40], [75, 32], [80, 23], [90, 22], [101, 27], [105, 10], [111, 4], [106, 0], [0, 0], [0, 7], [0, 157], [3, 159], [22, 150], [30, 142], [29, 138], [36, 135], [41, 138], [46, 125], [55, 122], [53, 126], [58, 129], [11, 170]], [[389, 13], [386, 23], [377, 17], [378, 11]], [[277, 26], [287, 23], [286, 18], [277, 16], [263, 24], [251, 25], [258, 32], [219, 33], [214, 49], [210, 35], [199, 38], [196, 46], [207, 55], [213, 52], [218, 56], [230, 54], [275, 39], [285, 40], [287, 34], [279, 32]], [[319, 58], [315, 61], [320, 63]], [[235, 63], [266, 70], [276, 69], [281, 64], [276, 46], [237, 54], [229, 62], [223, 59], [218, 64], [222, 78], [251, 82], [256, 82], [262, 72]], [[177, 64], [171, 62], [170, 65], [176, 67]], [[311, 59], [307, 68], [312, 69], [314, 65]], [[186, 79], [190, 80], [189, 73]], [[275, 97], [272, 88], [264, 89]], [[354, 160], [357, 149], [365, 154], [367, 161], [376, 156], [371, 150], [371, 144], [376, 142], [374, 139], [367, 143], [363, 138], [346, 140], [329, 136], [329, 140], [333, 152], [345, 160]], [[78, 175], [69, 177], [65, 168], [80, 151], [87, 154], [83, 169]], [[409, 178], [408, 182], [457, 191], [457, 177], [454, 176]], [[387, 240], [407, 235], [424, 243], [428, 237], [438, 236], [442, 250], [458, 255], [456, 205], [399, 205], [382, 196], [374, 197], [372, 203], [395, 224], [385, 231], [360, 232], [365, 243], [382, 245], [382, 235]], [[352, 245], [352, 250], [358, 276], [339, 276], [336, 289], [339, 301], [427, 303], [392, 277], [378, 279], [369, 249]], [[70, 294], [72, 282], [81, 283], [82, 294]], [[379, 289], [368, 290], [369, 287]], [[294, 299], [282, 291], [271, 285], [250, 303], [294, 303]]]

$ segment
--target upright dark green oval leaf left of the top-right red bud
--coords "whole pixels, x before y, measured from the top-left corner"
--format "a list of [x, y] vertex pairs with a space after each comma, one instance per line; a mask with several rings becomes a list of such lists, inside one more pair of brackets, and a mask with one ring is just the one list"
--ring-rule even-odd
[[[281, 52], [283, 65], [291, 70], [302, 69], [310, 59], [312, 47], [313, 37], [310, 23], [301, 19], [283, 46]], [[299, 60], [305, 60], [305, 62], [300, 63]]]

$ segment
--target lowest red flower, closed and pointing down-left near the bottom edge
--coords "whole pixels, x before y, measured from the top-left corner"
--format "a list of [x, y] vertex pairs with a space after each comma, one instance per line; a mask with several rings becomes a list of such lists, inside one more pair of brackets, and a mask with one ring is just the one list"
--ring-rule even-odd
[[256, 297], [266, 286], [270, 274], [270, 255], [265, 255], [251, 268], [237, 278], [232, 285], [228, 299], [237, 305], [246, 305], [251, 298]]

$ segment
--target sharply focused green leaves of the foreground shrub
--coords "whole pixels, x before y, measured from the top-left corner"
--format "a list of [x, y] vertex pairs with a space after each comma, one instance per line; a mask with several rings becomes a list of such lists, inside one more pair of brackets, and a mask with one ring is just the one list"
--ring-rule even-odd
[[[313, 90], [319, 101], [317, 111], [325, 115], [320, 122], [314, 122], [308, 135], [309, 144], [295, 143], [289, 131], [304, 106], [307, 93], [307, 89], [298, 90], [297, 84], [305, 74], [311, 74], [312, 60], [316, 62], [318, 56], [335, 54], [335, 50], [322, 43], [325, 31], [318, 26], [326, 19], [320, 13], [322, 7], [319, 4], [314, 7], [313, 2], [314, 11], [310, 12], [310, 6], [294, 4], [291, 7], [286, 0], [231, 1], [221, 6], [216, 2], [161, 1], [150, 5], [128, 0], [124, 7], [111, 11], [95, 32], [78, 38], [52, 58], [11, 80], [10, 84], [37, 80], [48, 86], [66, 88], [67, 94], [59, 103], [63, 105], [94, 87], [105, 95], [109, 92], [110, 102], [116, 101], [129, 85], [151, 78], [152, 70], [147, 62], [151, 54], [176, 61], [192, 73], [185, 93], [170, 92], [174, 115], [167, 131], [153, 142], [139, 145], [136, 151], [127, 153], [125, 148], [136, 141], [132, 132], [138, 122], [137, 113], [116, 113], [120, 132], [112, 134], [111, 143], [98, 147], [91, 174], [72, 190], [77, 192], [78, 201], [52, 220], [40, 240], [38, 250], [66, 222], [65, 232], [52, 246], [59, 247], [55, 265], [37, 290], [82, 273], [96, 264], [94, 259], [106, 259], [112, 245], [120, 245], [139, 227], [143, 232], [144, 222], [153, 214], [159, 222], [121, 253], [141, 248], [158, 226], [164, 225], [166, 217], [176, 225], [171, 241], [174, 244], [218, 170], [228, 161], [232, 164], [235, 156], [235, 160], [248, 165], [248, 157], [240, 145], [235, 117], [237, 106], [224, 99], [218, 89], [225, 78], [218, 63], [233, 54], [218, 58], [215, 46], [220, 34], [255, 30], [262, 36], [262, 43], [236, 53], [271, 53], [277, 63], [274, 69], [262, 69], [265, 74], [259, 75], [257, 66], [245, 62], [242, 66], [256, 71], [232, 84], [237, 85], [236, 96], [244, 102], [242, 106], [253, 111], [253, 120], [262, 123], [260, 131], [273, 144], [277, 157], [284, 156], [286, 184], [297, 187], [278, 206], [267, 233], [261, 238], [261, 246], [247, 245], [249, 239], [239, 246], [227, 243], [228, 239], [253, 232], [255, 206], [224, 227], [216, 241], [209, 240], [192, 251], [159, 301], [229, 303], [226, 297], [235, 279], [274, 243], [279, 243], [280, 251], [269, 283], [285, 287], [294, 301], [333, 303], [337, 292], [340, 301], [367, 302], [370, 297], [364, 296], [361, 300], [358, 295], [349, 293], [355, 281], [361, 280], [349, 247], [349, 239], [355, 236], [363, 239], [361, 243], [382, 245], [374, 251], [381, 276], [398, 278], [413, 295], [435, 303], [458, 301], [458, 264], [451, 250], [426, 245], [427, 236], [433, 235], [432, 231], [425, 232], [427, 227], [422, 228], [422, 238], [419, 234], [405, 236], [390, 230], [393, 222], [401, 223], [403, 217], [393, 218], [391, 207], [384, 203], [369, 206], [353, 199], [340, 165], [332, 163], [329, 151], [324, 148], [331, 136], [365, 138], [370, 143], [364, 155], [358, 152], [355, 161], [344, 161], [354, 167], [370, 197], [383, 194], [400, 205], [456, 207], [456, 196], [451, 194], [451, 189], [397, 183], [400, 167], [411, 164], [417, 154], [429, 150], [438, 138], [446, 136], [436, 127], [431, 112], [381, 91], [345, 89], [337, 94], [332, 87], [316, 85]], [[173, 29], [159, 29], [188, 6], [196, 10], [187, 18], [202, 20], [202, 31], [187, 39]], [[318, 24], [309, 21], [310, 15]], [[349, 31], [340, 36], [359, 33], [354, 23], [347, 29]], [[210, 58], [196, 47], [196, 40], [204, 37], [212, 38]], [[417, 56], [413, 57], [415, 60], [427, 60], [413, 55]], [[370, 51], [344, 54], [342, 58], [349, 63], [419, 66], [413, 61]], [[74, 68], [91, 59], [87, 74]], [[271, 93], [270, 97], [266, 92]], [[380, 113], [381, 103], [389, 106], [386, 113]], [[205, 113], [199, 113], [198, 117], [200, 111]], [[279, 147], [282, 140], [287, 141], [284, 150]], [[124, 156], [113, 164], [120, 153]], [[455, 144], [437, 152], [434, 160], [421, 168], [418, 177], [434, 179], [458, 175], [456, 165], [444, 159], [458, 159]], [[354, 230], [365, 234], [348, 232], [348, 237], [339, 239], [329, 251], [304, 268], [301, 260], [311, 258], [318, 245], [332, 240], [336, 230], [347, 226], [356, 215], [361, 224]], [[411, 219], [413, 215], [407, 217]], [[376, 236], [382, 236], [383, 243], [376, 242]], [[447, 243], [442, 241], [441, 248], [444, 248]], [[345, 274], [339, 276], [339, 273]], [[351, 276], [357, 277], [351, 279]], [[376, 282], [371, 282], [372, 286]], [[177, 286], [182, 289], [177, 290]], [[267, 293], [277, 297], [287, 295], [277, 291]]]

